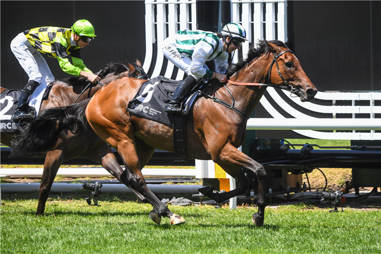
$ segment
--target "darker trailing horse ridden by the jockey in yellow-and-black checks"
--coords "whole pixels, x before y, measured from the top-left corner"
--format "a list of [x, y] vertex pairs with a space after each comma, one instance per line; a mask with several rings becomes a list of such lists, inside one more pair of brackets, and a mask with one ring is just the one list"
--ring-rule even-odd
[[[101, 84], [108, 84], [112, 80], [128, 76], [148, 78], [139, 60], [136, 61], [134, 66], [130, 63], [111, 62], [98, 73], [98, 76], [101, 77]], [[68, 106], [73, 104], [76, 100], [77, 103], [79, 103], [92, 97], [93, 94], [101, 88], [101, 85], [94, 84], [90, 86], [89, 89], [84, 90], [88, 83], [87, 79], [79, 77], [55, 80], [48, 99], [41, 104], [40, 114], [48, 109]], [[0, 92], [4, 90], [6, 89], [0, 87]], [[0, 143], [12, 147], [15, 142], [15, 137], [18, 135], [20, 134], [14, 133], [10, 135], [8, 133], [0, 133]], [[78, 156], [85, 156], [102, 165], [112, 175], [116, 174], [117, 179], [119, 179], [119, 175], [123, 171], [110, 146], [103, 142], [91, 129], [82, 133], [81, 136], [74, 136], [71, 132], [67, 131], [59, 133], [56, 141], [57, 142], [51, 146], [50, 149], [33, 152], [35, 154], [46, 152], [44, 171], [39, 187], [39, 204], [36, 215], [44, 214], [45, 204], [51, 186], [63, 162], [70, 161]], [[139, 194], [137, 195], [141, 199], [144, 199]]]

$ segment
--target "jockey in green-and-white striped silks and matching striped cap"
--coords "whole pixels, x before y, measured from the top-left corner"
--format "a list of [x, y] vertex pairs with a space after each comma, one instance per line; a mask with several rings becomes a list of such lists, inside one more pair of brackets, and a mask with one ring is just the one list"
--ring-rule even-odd
[[[186, 92], [202, 78], [216, 78], [226, 82], [228, 53], [239, 49], [245, 41], [247, 41], [245, 28], [234, 22], [226, 24], [221, 33], [185, 29], [165, 39], [162, 45], [164, 55], [188, 77], [177, 86], [172, 100], [164, 111], [185, 115], [181, 111], [180, 103]], [[215, 72], [210, 71], [205, 64], [211, 60], [214, 60]]]

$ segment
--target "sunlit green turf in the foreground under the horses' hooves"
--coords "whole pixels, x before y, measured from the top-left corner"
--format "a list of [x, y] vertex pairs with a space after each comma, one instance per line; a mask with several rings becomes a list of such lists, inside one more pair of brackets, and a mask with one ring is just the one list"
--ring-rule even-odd
[[[3, 200], [4, 202], [4, 200]], [[37, 200], [6, 200], [0, 208], [1, 253], [381, 253], [381, 212], [294, 205], [266, 209], [265, 225], [251, 222], [255, 207], [169, 208], [187, 223], [155, 225], [151, 206], [133, 201], [52, 199], [35, 217]]]

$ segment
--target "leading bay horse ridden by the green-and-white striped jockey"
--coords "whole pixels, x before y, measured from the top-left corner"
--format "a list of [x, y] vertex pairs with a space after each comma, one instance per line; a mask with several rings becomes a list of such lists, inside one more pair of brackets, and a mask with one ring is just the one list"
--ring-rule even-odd
[[[273, 68], [275, 64], [276, 68]], [[185, 125], [187, 155], [198, 160], [213, 160], [239, 182], [239, 187], [226, 193], [213, 192], [210, 186], [199, 189], [218, 203], [246, 192], [249, 181], [243, 169], [255, 173], [259, 182], [258, 212], [252, 215], [252, 221], [263, 226], [266, 171], [261, 164], [237, 149], [245, 140], [248, 116], [263, 96], [267, 88], [265, 84], [287, 85], [302, 102], [313, 100], [317, 89], [294, 53], [280, 41], [264, 40], [259, 41], [256, 48], [250, 47], [247, 58], [229, 68], [228, 78], [225, 84], [216, 79], [210, 80], [206, 91], [191, 108]], [[120, 180], [153, 206], [150, 218], [160, 224], [161, 216], [165, 216], [170, 218], [171, 225], [182, 224], [185, 223], [184, 218], [173, 213], [148, 189], [141, 173], [155, 149], [174, 152], [171, 128], [126, 110], [143, 82], [135, 78], [114, 80], [90, 100], [54, 112], [45, 111], [46, 115], [39, 123], [45, 121], [50, 129], [43, 124], [41, 126], [52, 132], [68, 129], [74, 133], [86, 130], [89, 123], [94, 132], [122, 157], [125, 170]], [[231, 105], [217, 104], [210, 98], [218, 98]], [[40, 129], [26, 131], [26, 138], [35, 140]], [[41, 139], [40, 142], [46, 140]], [[17, 149], [24, 149], [23, 145]]]

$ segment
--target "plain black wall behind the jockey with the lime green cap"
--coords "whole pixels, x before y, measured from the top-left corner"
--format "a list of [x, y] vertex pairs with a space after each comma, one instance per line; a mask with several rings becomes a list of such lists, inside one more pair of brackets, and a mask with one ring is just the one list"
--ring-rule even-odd
[[[10, 44], [24, 30], [40, 26], [70, 28], [76, 20], [87, 19], [95, 28], [96, 39], [81, 50], [81, 57], [92, 72], [112, 61], [144, 60], [144, 1], [85, 0], [2, 0], [0, 1], [0, 86], [22, 89], [28, 77], [13, 55]], [[63, 72], [57, 59], [44, 57], [56, 79]], [[70, 59], [70, 57], [69, 57]]]

